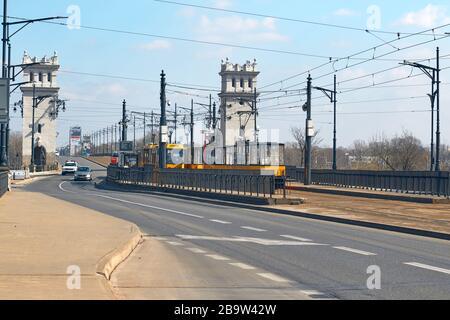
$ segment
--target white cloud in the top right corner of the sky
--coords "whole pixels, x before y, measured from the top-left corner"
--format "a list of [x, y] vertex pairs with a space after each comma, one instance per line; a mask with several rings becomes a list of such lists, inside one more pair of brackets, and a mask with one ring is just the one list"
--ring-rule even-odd
[[428, 4], [419, 11], [406, 13], [399, 21], [400, 25], [432, 28], [450, 22], [445, 6]]

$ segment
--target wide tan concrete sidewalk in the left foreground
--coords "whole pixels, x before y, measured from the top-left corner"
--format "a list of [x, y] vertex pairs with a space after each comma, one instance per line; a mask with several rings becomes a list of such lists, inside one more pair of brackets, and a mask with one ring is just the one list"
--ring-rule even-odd
[[[0, 299], [114, 299], [106, 278], [140, 236], [129, 222], [40, 193], [10, 192], [0, 199]], [[78, 278], [68, 271], [78, 268], [81, 288], [69, 289]]]

